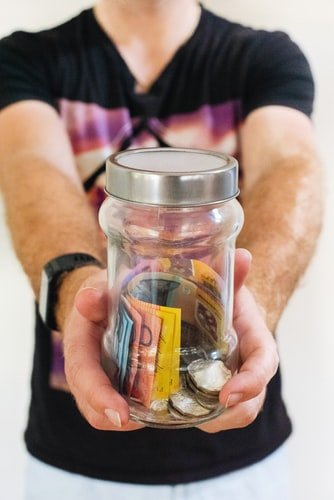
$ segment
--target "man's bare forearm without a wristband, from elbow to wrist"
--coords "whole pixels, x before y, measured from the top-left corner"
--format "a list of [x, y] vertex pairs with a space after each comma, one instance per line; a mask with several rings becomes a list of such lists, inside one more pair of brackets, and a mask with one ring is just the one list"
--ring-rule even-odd
[[238, 245], [253, 255], [247, 280], [274, 331], [316, 247], [322, 220], [322, 169], [311, 151], [279, 161], [242, 193]]

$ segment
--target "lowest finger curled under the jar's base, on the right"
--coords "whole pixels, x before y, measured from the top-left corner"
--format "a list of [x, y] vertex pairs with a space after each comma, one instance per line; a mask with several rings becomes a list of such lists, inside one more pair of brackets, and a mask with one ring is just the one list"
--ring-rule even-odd
[[256, 398], [225, 409], [219, 417], [198, 427], [202, 431], [209, 433], [247, 427], [254, 422], [261, 411], [265, 395], [266, 391], [263, 390]]

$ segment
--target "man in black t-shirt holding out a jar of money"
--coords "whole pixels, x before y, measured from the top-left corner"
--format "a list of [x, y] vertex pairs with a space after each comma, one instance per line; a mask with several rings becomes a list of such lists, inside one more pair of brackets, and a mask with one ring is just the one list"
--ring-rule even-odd
[[[277, 369], [269, 330], [321, 220], [313, 82], [299, 49], [282, 33], [230, 23], [195, 0], [101, 0], [53, 30], [4, 39], [0, 72], [8, 223], [37, 301], [53, 294], [48, 317], [57, 327], [51, 332], [37, 315], [28, 498], [285, 498], [271, 460], [291, 428], [279, 374], [267, 387]], [[91, 207], [103, 198], [103, 160], [157, 145], [240, 159], [246, 223], [238, 244], [253, 255], [247, 288], [249, 254], [236, 258], [242, 364], [220, 394], [226, 411], [177, 432], [138, 429], [100, 367], [105, 249]], [[41, 286], [45, 265], [59, 269], [73, 253], [85, 257], [60, 269], [51, 291]]]

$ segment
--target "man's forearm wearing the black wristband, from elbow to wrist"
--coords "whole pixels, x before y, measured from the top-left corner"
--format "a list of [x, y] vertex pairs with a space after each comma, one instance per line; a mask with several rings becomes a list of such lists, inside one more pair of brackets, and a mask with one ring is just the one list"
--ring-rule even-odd
[[[2, 169], [1, 187], [13, 245], [37, 299], [41, 270], [50, 259], [84, 252], [103, 261], [96, 216], [82, 189], [54, 165], [38, 156], [13, 155]], [[83, 280], [89, 272], [73, 274]], [[71, 281], [60, 302], [62, 318], [79, 286]]]

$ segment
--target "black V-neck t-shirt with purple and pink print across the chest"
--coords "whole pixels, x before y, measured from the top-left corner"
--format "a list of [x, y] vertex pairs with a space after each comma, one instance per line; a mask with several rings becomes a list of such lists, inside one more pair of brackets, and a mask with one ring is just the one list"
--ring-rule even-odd
[[[205, 9], [146, 94], [136, 93], [133, 75], [92, 10], [0, 42], [0, 108], [37, 99], [59, 112], [96, 209], [104, 198], [109, 154], [160, 145], [239, 157], [240, 126], [251, 111], [283, 105], [310, 115], [313, 94], [309, 65], [287, 35], [246, 28]], [[189, 482], [254, 463], [291, 432], [279, 373], [263, 411], [244, 429], [97, 431], [67, 392], [61, 340], [38, 313], [35, 340], [25, 439], [34, 456], [60, 468], [133, 483]]]

